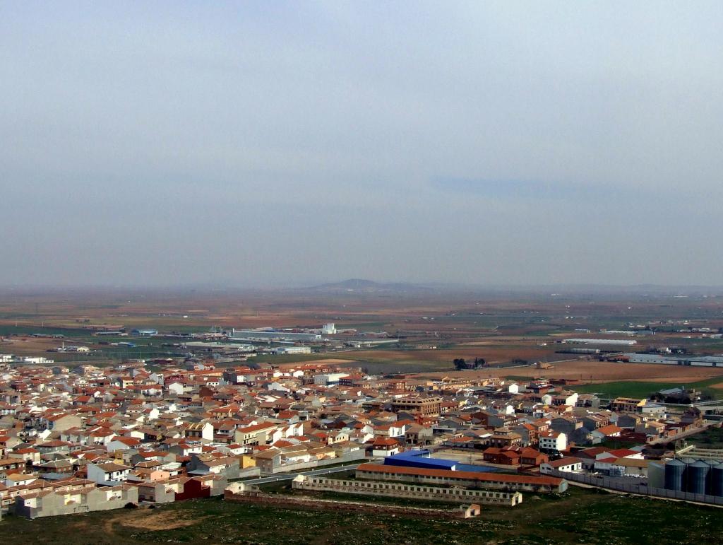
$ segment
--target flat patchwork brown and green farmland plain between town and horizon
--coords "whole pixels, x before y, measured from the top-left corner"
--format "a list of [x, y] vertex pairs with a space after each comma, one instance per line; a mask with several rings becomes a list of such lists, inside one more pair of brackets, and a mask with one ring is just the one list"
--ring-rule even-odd
[[[312, 355], [264, 356], [273, 364], [309, 360], [341, 360], [374, 373], [449, 373], [456, 358], [484, 358], [492, 366], [512, 360], [554, 362], [564, 337], [600, 337], [600, 329], [627, 329], [629, 324], [652, 324], [656, 335], [639, 337], [636, 350], [678, 345], [689, 353], [723, 352], [721, 339], [706, 338], [693, 327], [716, 331], [723, 327], [723, 297], [679, 298], [635, 293], [551, 295], [544, 292], [435, 292], [328, 293], [319, 290], [54, 290], [17, 292], [0, 290], [0, 335], [12, 342], [2, 352], [44, 355], [59, 339], [25, 339], [38, 332], [64, 334], [70, 344], [97, 349], [89, 358], [108, 362], [122, 358], [179, 355], [161, 347], [161, 337], [133, 339], [132, 349], [98, 345], [87, 326], [121, 324], [127, 330], [152, 328], [182, 333], [208, 331], [213, 326], [320, 327], [334, 322], [338, 329], [355, 329], [361, 339], [368, 332], [385, 331], [398, 337], [398, 347], [325, 351]], [[576, 331], [578, 330], [578, 331]], [[586, 332], [589, 331], [589, 334]], [[364, 334], [367, 334], [364, 337]], [[339, 341], [354, 338], [347, 334]], [[606, 337], [609, 338], [609, 337]], [[105, 337], [104, 342], [121, 339]], [[131, 339], [127, 339], [131, 340]], [[432, 349], [436, 346], [437, 349]], [[77, 361], [77, 355], [56, 360]], [[52, 357], [52, 356], [50, 356]], [[494, 371], [494, 369], [492, 370]], [[497, 371], [500, 373], [502, 371]], [[620, 365], [576, 360], [557, 363], [555, 369], [515, 368], [518, 376], [583, 379], [590, 381], [668, 381], [707, 379], [716, 371], [665, 366]], [[721, 379], [723, 384], [723, 378]]]

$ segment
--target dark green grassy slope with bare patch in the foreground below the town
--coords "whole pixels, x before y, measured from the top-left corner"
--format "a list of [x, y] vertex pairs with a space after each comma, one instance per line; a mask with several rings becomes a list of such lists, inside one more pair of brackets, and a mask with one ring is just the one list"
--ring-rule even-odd
[[204, 499], [33, 521], [7, 515], [0, 531], [13, 544], [699, 545], [719, 542], [723, 511], [573, 487], [560, 497], [525, 494], [514, 508], [483, 507], [471, 520]]

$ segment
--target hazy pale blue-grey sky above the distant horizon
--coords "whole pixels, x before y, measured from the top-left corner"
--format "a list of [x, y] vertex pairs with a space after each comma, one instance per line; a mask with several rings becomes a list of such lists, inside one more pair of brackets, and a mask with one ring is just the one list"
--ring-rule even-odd
[[0, 1], [0, 284], [723, 284], [723, 2]]

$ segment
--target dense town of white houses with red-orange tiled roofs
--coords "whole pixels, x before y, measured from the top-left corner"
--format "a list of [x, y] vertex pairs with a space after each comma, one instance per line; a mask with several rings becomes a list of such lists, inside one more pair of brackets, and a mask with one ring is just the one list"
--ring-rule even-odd
[[338, 363], [3, 361], [1, 506], [31, 519], [213, 496], [262, 502], [263, 484], [284, 480], [290, 494], [458, 502], [465, 516], [571, 483], [723, 504], [723, 449], [685, 444], [719, 428], [716, 404]]

